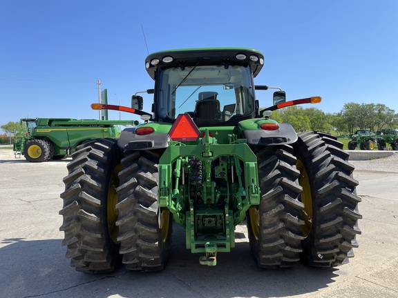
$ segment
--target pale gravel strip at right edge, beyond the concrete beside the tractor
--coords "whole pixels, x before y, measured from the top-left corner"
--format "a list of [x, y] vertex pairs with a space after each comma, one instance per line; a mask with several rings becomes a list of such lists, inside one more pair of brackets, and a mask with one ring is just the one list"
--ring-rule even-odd
[[398, 173], [398, 152], [390, 157], [365, 161], [350, 161], [355, 166], [354, 172]]

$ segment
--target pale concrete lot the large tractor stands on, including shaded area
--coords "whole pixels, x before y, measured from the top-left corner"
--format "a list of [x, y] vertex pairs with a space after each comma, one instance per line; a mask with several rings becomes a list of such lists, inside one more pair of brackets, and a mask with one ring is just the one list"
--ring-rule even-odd
[[238, 226], [236, 248], [218, 254], [217, 266], [200, 266], [175, 226], [164, 271], [107, 275], [76, 272], [64, 257], [58, 211], [67, 163], [29, 163], [0, 150], [0, 297], [398, 297], [398, 155], [352, 161], [363, 219], [349, 264], [260, 270]]

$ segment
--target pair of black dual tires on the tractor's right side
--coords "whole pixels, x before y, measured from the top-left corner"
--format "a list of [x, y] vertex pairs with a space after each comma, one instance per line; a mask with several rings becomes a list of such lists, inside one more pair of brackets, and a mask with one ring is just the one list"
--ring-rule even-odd
[[[269, 148], [257, 151], [262, 197], [260, 206], [249, 210], [247, 225], [258, 266], [294, 266], [301, 259], [309, 266], [334, 267], [354, 256], [361, 199], [354, 167], [342, 149], [330, 135], [304, 132], [292, 146], [275, 148], [273, 154], [265, 154]], [[271, 163], [273, 168], [264, 166]]]

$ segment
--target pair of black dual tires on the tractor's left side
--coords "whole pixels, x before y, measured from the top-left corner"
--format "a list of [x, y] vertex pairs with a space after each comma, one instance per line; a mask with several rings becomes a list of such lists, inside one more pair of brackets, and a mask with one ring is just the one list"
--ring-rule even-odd
[[162, 270], [172, 220], [157, 203], [158, 153], [124, 157], [117, 140], [98, 139], [72, 157], [59, 211], [70, 266], [88, 273], [110, 272], [121, 263], [131, 270]]

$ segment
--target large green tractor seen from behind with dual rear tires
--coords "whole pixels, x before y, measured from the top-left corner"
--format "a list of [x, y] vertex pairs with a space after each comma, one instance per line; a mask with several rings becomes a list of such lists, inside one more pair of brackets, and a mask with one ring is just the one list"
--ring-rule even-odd
[[200, 264], [235, 246], [247, 224], [261, 268], [333, 267], [353, 257], [361, 233], [357, 180], [343, 145], [331, 135], [297, 135], [272, 110], [320, 97], [260, 108], [253, 78], [263, 54], [248, 48], [155, 52], [146, 70], [155, 81], [152, 111], [133, 95], [124, 110], [144, 123], [120, 138], [82, 144], [68, 164], [60, 227], [70, 265], [81, 272], [162, 270], [173, 223]]

